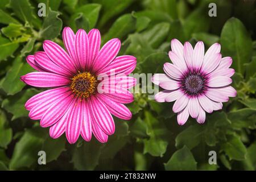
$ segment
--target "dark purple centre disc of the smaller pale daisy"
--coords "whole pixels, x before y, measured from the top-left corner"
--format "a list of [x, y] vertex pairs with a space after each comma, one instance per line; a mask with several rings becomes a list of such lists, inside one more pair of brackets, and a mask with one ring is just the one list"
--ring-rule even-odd
[[204, 79], [199, 75], [188, 75], [184, 78], [184, 89], [188, 94], [198, 94], [204, 89]]

